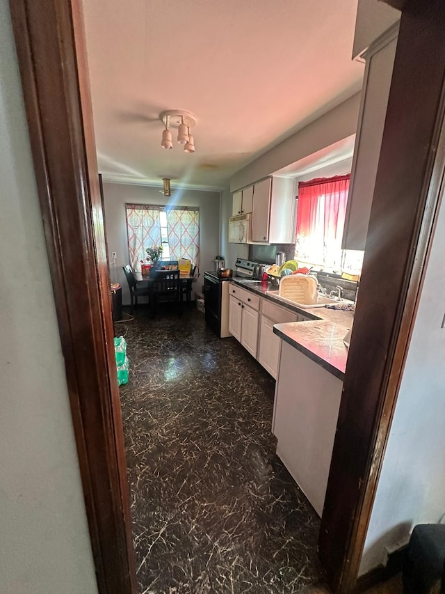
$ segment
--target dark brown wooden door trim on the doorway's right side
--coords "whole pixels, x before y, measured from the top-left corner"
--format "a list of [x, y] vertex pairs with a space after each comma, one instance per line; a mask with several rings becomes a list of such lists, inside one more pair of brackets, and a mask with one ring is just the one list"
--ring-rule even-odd
[[439, 203], [444, 28], [442, 0], [406, 3], [319, 538], [341, 593], [355, 586]]

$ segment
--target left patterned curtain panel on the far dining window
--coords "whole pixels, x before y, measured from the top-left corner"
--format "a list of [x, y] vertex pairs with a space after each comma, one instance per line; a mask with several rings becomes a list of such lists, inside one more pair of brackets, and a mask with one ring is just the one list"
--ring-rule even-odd
[[140, 272], [140, 260], [147, 258], [147, 247], [161, 245], [159, 206], [126, 204], [130, 265]]

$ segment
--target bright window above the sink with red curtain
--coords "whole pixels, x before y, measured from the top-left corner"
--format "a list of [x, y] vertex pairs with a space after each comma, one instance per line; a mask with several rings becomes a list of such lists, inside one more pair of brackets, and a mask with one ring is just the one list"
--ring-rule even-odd
[[362, 268], [363, 252], [341, 249], [350, 173], [298, 184], [296, 260], [336, 272]]

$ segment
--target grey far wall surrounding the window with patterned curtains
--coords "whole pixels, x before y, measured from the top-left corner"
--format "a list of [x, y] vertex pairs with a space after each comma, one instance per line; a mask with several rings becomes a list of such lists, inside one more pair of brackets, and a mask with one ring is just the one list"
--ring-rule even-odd
[[[108, 241], [108, 258], [117, 253], [116, 282], [122, 285], [122, 302], [129, 304], [129, 289], [122, 266], [129, 263], [125, 203], [165, 205], [175, 201], [179, 206], [197, 206], [200, 209], [200, 279], [193, 283], [194, 291], [201, 292], [202, 276], [213, 270], [213, 258], [220, 251], [220, 194], [193, 189], [172, 189], [172, 196], [165, 198], [159, 187], [116, 184], [104, 182], [105, 226]], [[111, 269], [111, 280], [113, 269]], [[144, 302], [141, 297], [140, 302]]]

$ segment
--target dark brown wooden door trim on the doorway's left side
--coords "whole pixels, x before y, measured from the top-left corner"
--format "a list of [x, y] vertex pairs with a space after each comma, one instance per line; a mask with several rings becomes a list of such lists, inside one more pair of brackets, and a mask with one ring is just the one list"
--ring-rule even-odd
[[10, 0], [101, 594], [136, 593], [80, 0]]

